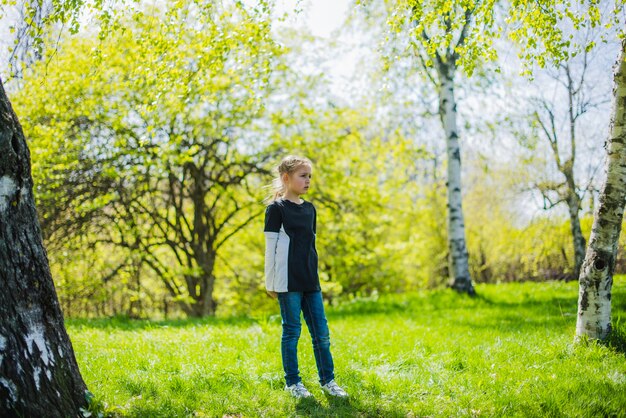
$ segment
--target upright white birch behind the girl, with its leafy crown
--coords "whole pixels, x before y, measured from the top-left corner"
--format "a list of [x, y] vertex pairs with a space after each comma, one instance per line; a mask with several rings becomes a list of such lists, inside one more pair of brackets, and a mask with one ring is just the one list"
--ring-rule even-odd
[[448, 251], [451, 287], [475, 294], [469, 271], [461, 182], [459, 78], [494, 57], [487, 47], [493, 33], [494, 1], [401, 1], [394, 3], [393, 27], [406, 32], [426, 78], [437, 92], [446, 141]]

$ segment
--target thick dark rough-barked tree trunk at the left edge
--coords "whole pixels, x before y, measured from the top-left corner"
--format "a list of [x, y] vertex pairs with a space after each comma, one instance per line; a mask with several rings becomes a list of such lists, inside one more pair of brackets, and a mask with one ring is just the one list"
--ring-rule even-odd
[[0, 285], [0, 416], [78, 416], [87, 387], [41, 240], [30, 153], [1, 80]]

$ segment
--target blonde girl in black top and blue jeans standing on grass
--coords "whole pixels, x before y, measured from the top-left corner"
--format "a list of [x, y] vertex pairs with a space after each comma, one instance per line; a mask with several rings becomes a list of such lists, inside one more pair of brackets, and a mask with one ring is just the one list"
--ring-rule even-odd
[[311, 171], [310, 160], [292, 155], [278, 166], [273, 201], [265, 211], [265, 287], [280, 305], [285, 389], [296, 398], [311, 396], [298, 371], [302, 311], [311, 334], [322, 390], [343, 398], [348, 394], [334, 380], [328, 323], [317, 274], [315, 207], [300, 197], [309, 190]]

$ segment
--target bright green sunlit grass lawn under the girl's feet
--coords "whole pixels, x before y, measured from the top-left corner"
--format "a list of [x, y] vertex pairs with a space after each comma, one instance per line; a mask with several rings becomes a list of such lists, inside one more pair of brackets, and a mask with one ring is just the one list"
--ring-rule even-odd
[[[278, 309], [67, 325], [96, 408], [113, 416], [626, 416], [625, 328], [608, 345], [574, 345], [577, 286], [478, 286], [475, 299], [439, 290], [327, 308], [348, 401], [322, 394], [306, 331], [300, 369], [315, 399], [282, 390]], [[625, 314], [617, 277], [614, 322]]]

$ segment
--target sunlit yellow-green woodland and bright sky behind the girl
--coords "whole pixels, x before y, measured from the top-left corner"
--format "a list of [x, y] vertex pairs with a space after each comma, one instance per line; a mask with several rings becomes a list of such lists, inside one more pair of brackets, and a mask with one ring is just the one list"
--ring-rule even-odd
[[[430, 67], [382, 2], [346, 6], [330, 33], [303, 25], [311, 4], [260, 5], [214, 3], [206, 19], [194, 4], [137, 3], [143, 13], [108, 36], [86, 13], [80, 36], [58, 28], [54, 48], [26, 42], [2, 60], [66, 317], [273, 309], [263, 199], [290, 153], [314, 163], [305, 198], [318, 208], [331, 303], [448, 282]], [[16, 13], [4, 19], [28, 24]], [[611, 30], [572, 31], [596, 48], [532, 77], [498, 39], [497, 57], [457, 75], [474, 282], [577, 277], [572, 224], [589, 236], [619, 51]]]

